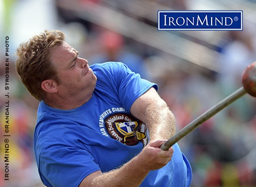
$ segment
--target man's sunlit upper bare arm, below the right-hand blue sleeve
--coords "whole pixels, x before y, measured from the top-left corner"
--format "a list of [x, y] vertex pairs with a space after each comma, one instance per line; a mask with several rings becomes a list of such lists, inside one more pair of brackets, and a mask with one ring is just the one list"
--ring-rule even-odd
[[170, 139], [175, 134], [175, 117], [154, 88], [141, 95], [131, 106], [131, 114], [146, 124], [150, 141]]

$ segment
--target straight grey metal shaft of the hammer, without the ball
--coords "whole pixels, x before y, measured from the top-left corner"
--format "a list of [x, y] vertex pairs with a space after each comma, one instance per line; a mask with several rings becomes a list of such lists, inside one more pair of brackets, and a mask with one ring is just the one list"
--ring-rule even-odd
[[241, 87], [233, 94], [230, 94], [228, 97], [217, 103], [217, 105], [213, 106], [209, 110], [207, 110], [205, 113], [197, 117], [195, 120], [193, 120], [191, 123], [187, 124], [184, 128], [182, 128], [180, 131], [178, 131], [172, 138], [167, 140], [166, 143], [164, 143], [160, 148], [163, 150], [168, 150], [170, 147], [172, 147], [176, 142], [178, 142], [181, 138], [183, 138], [185, 135], [189, 134], [189, 132], [192, 132], [195, 130], [195, 128], [199, 127], [201, 124], [203, 124], [206, 120], [210, 119], [224, 109], [226, 106], [230, 105], [234, 101], [236, 101], [238, 98], [245, 95], [247, 92], [246, 90]]

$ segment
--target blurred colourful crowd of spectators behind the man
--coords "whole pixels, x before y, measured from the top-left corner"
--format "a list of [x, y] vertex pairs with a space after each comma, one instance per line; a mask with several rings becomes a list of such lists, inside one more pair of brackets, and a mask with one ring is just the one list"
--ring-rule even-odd
[[[38, 101], [14, 69], [20, 42], [57, 29], [89, 64], [122, 61], [159, 85], [179, 130], [242, 86], [243, 69], [256, 61], [255, 9], [255, 0], [1, 0], [0, 130], [9, 36], [11, 137], [9, 181], [0, 138], [0, 186], [44, 186], [32, 149]], [[243, 10], [243, 31], [158, 31], [158, 10]], [[180, 140], [192, 186], [256, 186], [255, 143], [256, 99], [246, 95]]]

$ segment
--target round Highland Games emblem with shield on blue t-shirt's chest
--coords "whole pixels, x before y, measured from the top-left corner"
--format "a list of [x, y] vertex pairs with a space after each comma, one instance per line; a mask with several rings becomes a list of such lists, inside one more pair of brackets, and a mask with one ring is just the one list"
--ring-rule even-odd
[[[112, 113], [112, 110], [107, 111], [109, 114]], [[105, 124], [105, 128], [102, 123]], [[127, 113], [112, 113], [108, 117], [104, 116], [102, 120], [100, 119], [100, 127], [103, 135], [110, 136], [127, 146], [135, 146], [139, 142], [142, 142], [143, 146], [147, 144], [145, 124]]]

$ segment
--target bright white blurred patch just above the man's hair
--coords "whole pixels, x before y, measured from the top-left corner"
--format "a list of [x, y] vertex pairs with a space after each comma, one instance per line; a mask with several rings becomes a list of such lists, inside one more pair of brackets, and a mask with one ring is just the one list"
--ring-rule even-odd
[[51, 0], [15, 1], [10, 15], [10, 37], [14, 47], [46, 29], [56, 28], [57, 15], [54, 5], [55, 1]]

